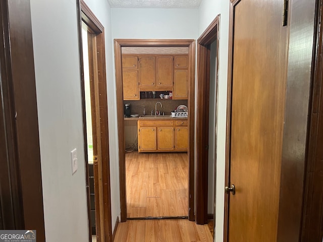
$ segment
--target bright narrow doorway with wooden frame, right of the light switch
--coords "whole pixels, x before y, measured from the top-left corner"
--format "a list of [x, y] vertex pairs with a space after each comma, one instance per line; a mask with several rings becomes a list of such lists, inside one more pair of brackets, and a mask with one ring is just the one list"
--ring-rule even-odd
[[113, 241], [104, 28], [82, 0], [78, 7], [89, 241]]

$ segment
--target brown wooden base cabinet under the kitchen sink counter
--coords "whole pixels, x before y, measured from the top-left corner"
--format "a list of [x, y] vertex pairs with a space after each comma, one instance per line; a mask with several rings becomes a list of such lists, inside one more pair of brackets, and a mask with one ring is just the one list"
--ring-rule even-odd
[[138, 120], [138, 152], [187, 150], [187, 120]]

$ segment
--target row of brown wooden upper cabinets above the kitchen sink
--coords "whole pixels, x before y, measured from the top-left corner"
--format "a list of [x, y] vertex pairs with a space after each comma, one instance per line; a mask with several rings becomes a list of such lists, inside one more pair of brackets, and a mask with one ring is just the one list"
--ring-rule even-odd
[[173, 99], [188, 98], [188, 55], [124, 54], [124, 100], [139, 100], [139, 91], [173, 91]]

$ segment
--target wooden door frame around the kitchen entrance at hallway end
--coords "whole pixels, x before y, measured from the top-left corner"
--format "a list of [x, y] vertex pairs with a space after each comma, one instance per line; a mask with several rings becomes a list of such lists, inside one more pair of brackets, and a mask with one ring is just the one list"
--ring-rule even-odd
[[120, 203], [121, 222], [127, 220], [126, 195], [126, 158], [124, 140], [124, 107], [122, 83], [122, 47], [188, 47], [189, 55], [189, 180], [188, 180], [188, 218], [194, 221], [194, 118], [195, 118], [195, 40], [193, 39], [115, 39], [115, 67], [117, 89], [117, 119], [119, 134], [119, 176], [120, 176]]

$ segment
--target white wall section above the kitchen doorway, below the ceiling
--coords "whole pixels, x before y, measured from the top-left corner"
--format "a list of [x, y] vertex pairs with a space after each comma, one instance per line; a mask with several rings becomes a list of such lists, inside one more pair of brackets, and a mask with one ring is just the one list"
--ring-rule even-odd
[[113, 38], [196, 39], [197, 9], [112, 9]]

